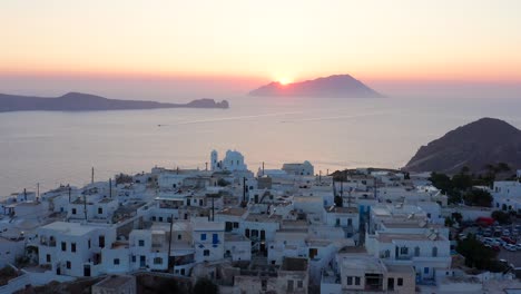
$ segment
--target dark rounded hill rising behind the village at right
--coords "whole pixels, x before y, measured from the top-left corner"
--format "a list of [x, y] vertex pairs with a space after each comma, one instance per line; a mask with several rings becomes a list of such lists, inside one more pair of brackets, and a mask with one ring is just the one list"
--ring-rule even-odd
[[483, 173], [488, 164], [521, 168], [521, 130], [495, 118], [482, 118], [422, 146], [403, 168], [453, 174], [466, 166]]

